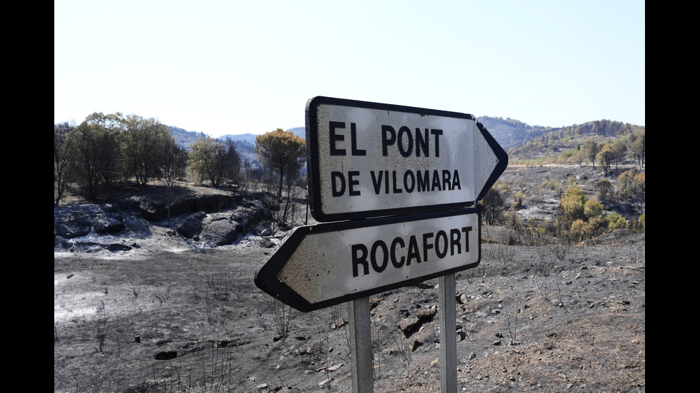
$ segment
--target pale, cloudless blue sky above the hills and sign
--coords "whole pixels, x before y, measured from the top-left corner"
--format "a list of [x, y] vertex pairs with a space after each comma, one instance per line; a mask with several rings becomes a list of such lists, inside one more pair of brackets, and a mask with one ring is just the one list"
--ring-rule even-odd
[[645, 19], [632, 0], [55, 0], [54, 123], [259, 134], [330, 96], [644, 126]]

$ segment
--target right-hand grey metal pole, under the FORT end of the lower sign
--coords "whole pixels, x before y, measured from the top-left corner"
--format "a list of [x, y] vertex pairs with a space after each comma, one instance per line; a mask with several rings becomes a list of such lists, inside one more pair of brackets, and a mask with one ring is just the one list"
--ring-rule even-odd
[[454, 273], [440, 277], [440, 392], [457, 391], [457, 311]]

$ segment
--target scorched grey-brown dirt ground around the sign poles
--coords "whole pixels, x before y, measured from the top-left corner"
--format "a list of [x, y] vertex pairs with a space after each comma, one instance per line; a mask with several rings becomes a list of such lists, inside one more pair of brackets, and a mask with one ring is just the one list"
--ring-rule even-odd
[[[54, 392], [352, 392], [346, 304], [302, 313], [259, 290], [273, 249], [255, 236], [202, 249], [139, 225], [116, 239], [129, 251], [54, 251]], [[458, 391], [645, 392], [644, 234], [481, 241], [457, 275]], [[375, 392], [440, 391], [437, 281], [371, 297]]]

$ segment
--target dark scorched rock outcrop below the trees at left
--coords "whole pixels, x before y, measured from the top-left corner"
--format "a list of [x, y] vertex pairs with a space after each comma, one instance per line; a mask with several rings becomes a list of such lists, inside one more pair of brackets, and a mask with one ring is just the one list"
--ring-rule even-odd
[[[227, 245], [249, 232], [260, 236], [272, 234], [270, 222], [279, 205], [270, 203], [268, 199], [262, 195], [244, 197], [224, 194], [180, 198], [171, 204], [171, 218], [178, 218], [176, 233], [183, 238], [209, 247]], [[147, 223], [166, 220], [167, 217], [164, 200], [149, 196], [130, 197], [116, 204], [54, 207], [54, 249], [75, 249], [81, 245], [101, 246], [107, 250], [129, 249], [131, 246], [119, 243], [101, 244], [99, 236], [84, 237], [135, 230], [141, 235], [149, 235], [143, 232], [147, 231], [144, 229]], [[140, 228], [132, 228], [134, 223]]]

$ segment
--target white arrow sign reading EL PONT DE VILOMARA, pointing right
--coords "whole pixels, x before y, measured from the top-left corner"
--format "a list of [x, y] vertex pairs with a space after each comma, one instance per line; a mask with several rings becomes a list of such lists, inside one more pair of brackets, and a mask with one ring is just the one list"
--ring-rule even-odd
[[306, 103], [306, 150], [320, 222], [474, 205], [508, 165], [469, 114], [329, 97]]

